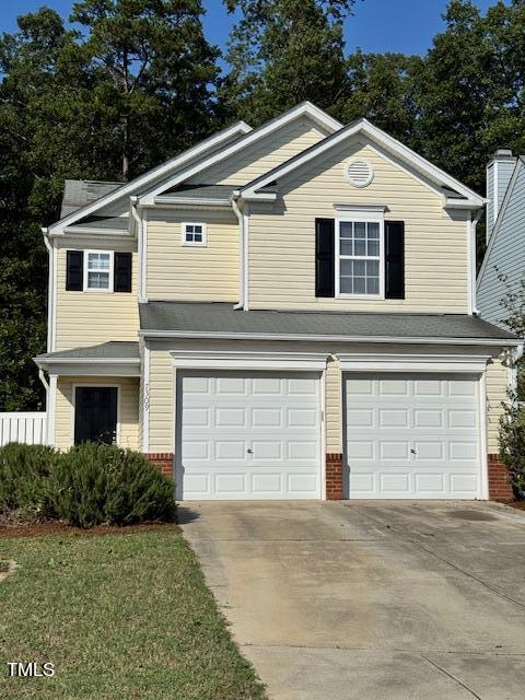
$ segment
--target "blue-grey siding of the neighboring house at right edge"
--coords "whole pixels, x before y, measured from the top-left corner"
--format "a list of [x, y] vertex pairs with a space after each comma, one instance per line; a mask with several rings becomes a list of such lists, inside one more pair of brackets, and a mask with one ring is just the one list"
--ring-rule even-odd
[[[501, 220], [494, 231], [494, 238], [487, 252], [487, 260], [478, 281], [477, 306], [481, 316], [501, 326], [509, 312], [501, 304], [508, 295], [508, 284], [514, 291], [521, 280], [525, 280], [525, 165], [518, 161], [520, 170]], [[508, 282], [498, 279], [499, 272]]]

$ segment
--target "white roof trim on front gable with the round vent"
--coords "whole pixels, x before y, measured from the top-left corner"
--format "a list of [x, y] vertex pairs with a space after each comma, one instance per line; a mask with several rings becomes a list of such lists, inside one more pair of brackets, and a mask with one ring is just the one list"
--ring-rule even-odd
[[292, 171], [312, 161], [328, 149], [334, 148], [341, 141], [345, 141], [346, 139], [349, 139], [355, 135], [364, 135], [371, 141], [376, 141], [386, 150], [395, 153], [395, 155], [397, 155], [401, 161], [409, 163], [415, 170], [424, 174], [429, 179], [435, 182], [439, 185], [445, 185], [446, 187], [454, 189], [458, 194], [466, 197], [469, 202], [476, 203], [478, 207], [483, 206], [483, 197], [480, 197], [474, 190], [459, 183], [459, 180], [457, 180], [455, 177], [452, 177], [452, 175], [448, 175], [436, 165], [433, 165], [427, 159], [418, 155], [407, 145], [402, 144], [397, 139], [394, 139], [392, 136], [388, 136], [388, 133], [386, 133], [382, 129], [378, 129], [366, 119], [360, 119], [359, 121], [351, 124], [348, 127], [343, 127], [335, 137], [327, 137], [317, 145], [308, 149], [308, 151], [303, 155], [294, 156], [287, 163], [283, 163], [281, 166], [273, 168], [262, 177], [253, 180], [241, 190], [241, 196], [243, 198], [257, 198], [258, 189], [269, 185], [279, 177], [288, 175]]

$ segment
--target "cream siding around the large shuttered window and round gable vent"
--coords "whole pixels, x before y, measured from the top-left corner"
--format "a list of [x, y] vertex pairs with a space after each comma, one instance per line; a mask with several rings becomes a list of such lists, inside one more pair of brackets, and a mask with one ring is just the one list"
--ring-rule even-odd
[[[374, 168], [361, 189], [343, 174], [354, 156]], [[250, 205], [250, 308], [468, 313], [466, 212], [445, 212], [441, 195], [375, 147], [338, 145], [278, 185], [283, 201]], [[386, 206], [385, 219], [405, 221], [405, 300], [316, 299], [315, 219], [352, 218], [334, 205]]]

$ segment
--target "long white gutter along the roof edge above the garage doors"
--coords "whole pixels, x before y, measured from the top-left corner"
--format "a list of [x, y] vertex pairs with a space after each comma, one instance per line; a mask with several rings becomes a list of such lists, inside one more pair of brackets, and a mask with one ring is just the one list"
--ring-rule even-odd
[[261, 334], [261, 332], [222, 332], [209, 330], [139, 330], [144, 338], [207, 338], [215, 340], [300, 340], [311, 342], [381, 342], [406, 345], [446, 345], [446, 346], [520, 346], [521, 338], [418, 338], [386, 336], [306, 336], [301, 334]]

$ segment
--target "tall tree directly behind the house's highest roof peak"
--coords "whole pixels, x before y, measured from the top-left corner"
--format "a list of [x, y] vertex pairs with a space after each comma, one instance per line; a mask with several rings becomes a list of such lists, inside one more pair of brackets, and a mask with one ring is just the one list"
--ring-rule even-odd
[[221, 97], [260, 124], [304, 100], [334, 109], [347, 86], [342, 21], [355, 0], [224, 0], [236, 23]]

